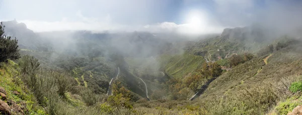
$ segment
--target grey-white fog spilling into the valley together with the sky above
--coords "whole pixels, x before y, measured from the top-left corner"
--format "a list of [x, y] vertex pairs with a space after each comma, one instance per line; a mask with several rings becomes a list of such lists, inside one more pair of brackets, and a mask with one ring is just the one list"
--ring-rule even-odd
[[[20, 38], [22, 48], [44, 46], [75, 56], [88, 56], [97, 49], [108, 59], [116, 51], [123, 57], [155, 61], [146, 64], [157, 68], [157, 60], [150, 57], [182, 54], [187, 41], [199, 40], [203, 35], [219, 35], [224, 28], [248, 26], [251, 29], [236, 31], [247, 32], [247, 41], [259, 36], [255, 34], [263, 34], [257, 39], [275, 39], [285, 34], [301, 37], [302, 30], [302, 2], [299, 1], [3, 0], [0, 4], [3, 15], [0, 20], [16, 18], [19, 25], [26, 24], [16, 30], [7, 25], [8, 34]], [[255, 29], [259, 32], [255, 33]], [[38, 40], [29, 42], [30, 38]]]

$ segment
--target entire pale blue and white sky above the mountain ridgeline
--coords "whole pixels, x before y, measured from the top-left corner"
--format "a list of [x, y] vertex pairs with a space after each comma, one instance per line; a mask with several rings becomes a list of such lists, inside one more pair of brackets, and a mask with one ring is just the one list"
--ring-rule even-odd
[[206, 34], [259, 22], [296, 25], [302, 19], [301, 3], [297, 0], [0, 0], [0, 20], [16, 19], [35, 32]]

